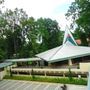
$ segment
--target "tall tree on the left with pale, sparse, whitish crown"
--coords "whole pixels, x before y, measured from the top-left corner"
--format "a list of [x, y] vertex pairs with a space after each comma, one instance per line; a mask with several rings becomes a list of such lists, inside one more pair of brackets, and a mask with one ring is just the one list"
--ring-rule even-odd
[[21, 22], [26, 20], [27, 14], [22, 9], [6, 10], [2, 13], [1, 35], [6, 37], [8, 58], [18, 57], [19, 50], [24, 42]]

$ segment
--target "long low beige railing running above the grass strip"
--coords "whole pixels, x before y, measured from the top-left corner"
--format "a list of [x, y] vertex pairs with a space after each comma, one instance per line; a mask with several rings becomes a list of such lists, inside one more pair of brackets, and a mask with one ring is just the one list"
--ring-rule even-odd
[[[68, 76], [69, 69], [46, 69], [46, 68], [12, 68], [11, 72], [13, 74], [25, 74], [32, 75], [32, 70], [34, 75], [44, 75], [44, 76]], [[87, 77], [87, 71], [81, 71], [80, 69], [71, 69], [73, 76], [84, 76]]]

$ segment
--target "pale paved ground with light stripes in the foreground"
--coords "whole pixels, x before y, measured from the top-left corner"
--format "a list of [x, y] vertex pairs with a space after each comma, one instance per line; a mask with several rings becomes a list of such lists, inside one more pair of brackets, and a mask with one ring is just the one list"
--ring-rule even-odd
[[[32, 81], [2, 80], [0, 90], [62, 90], [62, 84]], [[86, 86], [67, 85], [67, 90], [87, 90]]]

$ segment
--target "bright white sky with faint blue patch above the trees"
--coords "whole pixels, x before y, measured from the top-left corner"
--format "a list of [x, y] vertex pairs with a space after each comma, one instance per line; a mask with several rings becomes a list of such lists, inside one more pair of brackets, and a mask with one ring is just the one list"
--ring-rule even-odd
[[40, 17], [51, 18], [59, 23], [62, 30], [69, 22], [65, 19], [65, 13], [74, 0], [5, 0], [4, 6], [8, 9], [23, 8], [28, 16], [35, 19]]

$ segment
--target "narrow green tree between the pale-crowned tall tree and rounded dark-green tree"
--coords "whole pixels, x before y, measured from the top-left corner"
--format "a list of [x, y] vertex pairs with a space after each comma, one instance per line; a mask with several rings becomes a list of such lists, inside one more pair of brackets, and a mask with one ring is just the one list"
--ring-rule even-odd
[[[33, 57], [36, 53], [38, 53], [38, 43], [37, 43], [37, 24], [36, 20], [33, 17], [29, 17], [28, 20], [22, 22], [23, 26], [23, 36], [25, 37], [25, 45], [22, 47], [22, 50], [27, 54], [24, 56]], [[21, 56], [22, 56], [21, 52]]]

